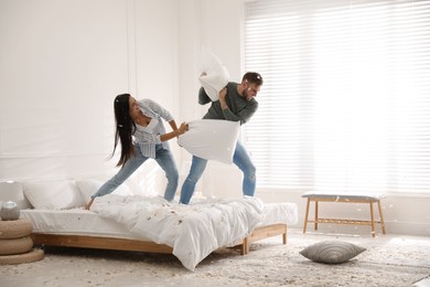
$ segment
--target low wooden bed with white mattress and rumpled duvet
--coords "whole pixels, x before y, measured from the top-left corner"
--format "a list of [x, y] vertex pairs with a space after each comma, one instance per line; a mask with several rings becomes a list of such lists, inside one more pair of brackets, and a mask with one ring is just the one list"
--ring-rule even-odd
[[[217, 248], [238, 247], [245, 255], [252, 242], [278, 235], [287, 244], [287, 226], [298, 221], [294, 203], [267, 204], [255, 196], [184, 205], [161, 196], [108, 194], [86, 211], [84, 200], [72, 208], [42, 206], [47, 196], [39, 198], [39, 190], [37, 202], [28, 190], [33, 209], [21, 210], [21, 217], [32, 222], [35, 245], [171, 253], [190, 270]], [[58, 190], [64, 200], [65, 187]]]

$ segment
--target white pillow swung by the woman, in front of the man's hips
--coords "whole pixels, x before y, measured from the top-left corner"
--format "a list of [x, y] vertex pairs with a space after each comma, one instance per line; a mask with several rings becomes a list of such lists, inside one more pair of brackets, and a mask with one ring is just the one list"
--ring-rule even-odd
[[233, 163], [240, 130], [239, 121], [200, 119], [187, 124], [189, 131], [178, 139], [181, 147], [202, 159]]

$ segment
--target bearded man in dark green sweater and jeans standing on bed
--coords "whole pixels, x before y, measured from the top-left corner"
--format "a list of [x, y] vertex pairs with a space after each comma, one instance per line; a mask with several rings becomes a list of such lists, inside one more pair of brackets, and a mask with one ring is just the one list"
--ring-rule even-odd
[[[204, 119], [224, 119], [240, 121], [240, 125], [247, 123], [258, 108], [255, 99], [262, 85], [262, 77], [255, 72], [246, 73], [241, 83], [229, 82], [226, 87], [219, 92], [218, 100], [212, 102]], [[198, 91], [198, 104], [211, 103], [211, 98], [201, 87]], [[233, 162], [244, 172], [243, 192], [244, 195], [252, 196], [256, 190], [256, 167], [248, 156], [245, 147], [238, 141], [236, 145]], [[207, 160], [193, 156], [190, 173], [186, 177], [182, 190], [180, 203], [187, 204], [193, 196], [195, 184], [202, 177]]]

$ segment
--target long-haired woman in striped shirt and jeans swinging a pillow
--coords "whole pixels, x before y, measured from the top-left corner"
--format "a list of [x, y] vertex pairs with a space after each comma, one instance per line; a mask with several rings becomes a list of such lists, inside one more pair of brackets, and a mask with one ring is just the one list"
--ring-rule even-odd
[[[168, 178], [164, 199], [172, 201], [178, 188], [179, 172], [166, 140], [184, 134], [189, 126], [182, 123], [178, 128], [172, 115], [159, 104], [151, 99], [137, 102], [129, 94], [118, 95], [114, 108], [117, 127], [111, 156], [115, 155], [119, 139], [121, 157], [117, 167], [121, 169], [92, 195], [85, 209], [89, 210], [95, 198], [111, 193], [149, 158], [153, 158], [164, 170]], [[161, 119], [168, 121], [173, 131], [165, 134]]]

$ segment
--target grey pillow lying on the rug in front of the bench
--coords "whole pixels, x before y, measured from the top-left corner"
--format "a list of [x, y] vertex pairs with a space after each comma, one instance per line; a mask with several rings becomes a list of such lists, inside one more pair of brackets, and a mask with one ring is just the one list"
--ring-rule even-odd
[[318, 263], [340, 264], [357, 256], [366, 248], [350, 242], [322, 241], [305, 247], [300, 254]]

